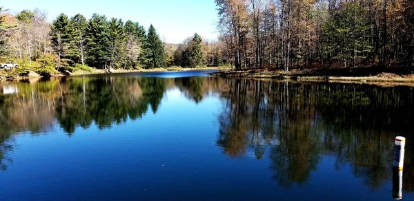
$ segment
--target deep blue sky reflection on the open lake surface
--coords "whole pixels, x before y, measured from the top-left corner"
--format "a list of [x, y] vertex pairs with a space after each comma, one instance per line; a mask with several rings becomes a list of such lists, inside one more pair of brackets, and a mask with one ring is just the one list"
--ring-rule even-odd
[[[319, 154], [308, 180], [282, 186], [275, 174], [284, 172], [272, 169], [270, 160], [271, 149], [284, 146], [278, 136], [270, 143], [255, 141], [268, 146], [260, 160], [251, 146], [237, 158], [224, 154], [217, 131], [226, 100], [205, 95], [195, 103], [172, 87], [155, 114], [148, 111], [110, 128], [92, 123], [68, 136], [55, 122], [36, 136], [14, 136], [14, 151], [8, 153], [13, 161], [0, 171], [0, 200], [391, 198], [391, 181], [373, 188], [355, 176], [353, 164], [338, 166], [334, 154]], [[404, 199], [414, 199], [414, 194], [404, 193]]]

